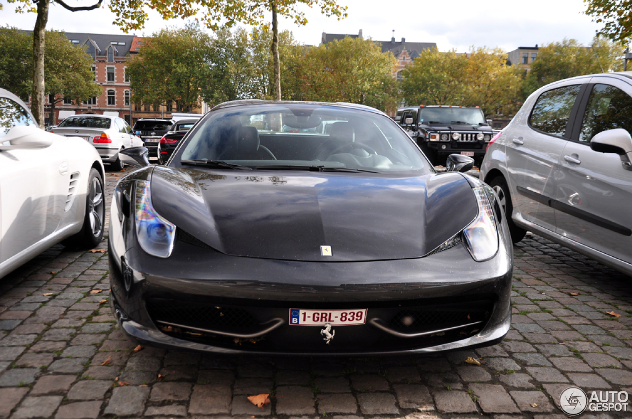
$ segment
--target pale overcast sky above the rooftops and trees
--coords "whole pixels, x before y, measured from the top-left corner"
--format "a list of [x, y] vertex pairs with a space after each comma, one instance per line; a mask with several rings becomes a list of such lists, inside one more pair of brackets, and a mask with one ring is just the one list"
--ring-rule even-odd
[[[107, 4], [104, 1], [104, 4]], [[92, 4], [93, 0], [69, 0], [69, 4]], [[308, 23], [298, 27], [289, 20], [279, 20], [281, 30], [291, 30], [301, 44], [318, 45], [322, 32], [356, 34], [363, 30], [365, 38], [435, 42], [439, 50], [465, 52], [470, 47], [501, 47], [505, 51], [519, 46], [543, 45], [574, 38], [590, 44], [598, 25], [583, 14], [582, 0], [339, 0], [348, 6], [348, 18], [338, 21], [321, 15], [317, 9], [306, 9]], [[4, 3], [0, 25], [32, 30], [35, 13], [19, 15], [14, 4]], [[166, 26], [181, 27], [182, 20], [164, 21], [153, 12], [144, 30], [136, 35], [149, 36]], [[66, 32], [122, 34], [112, 21], [109, 9], [72, 13], [52, 4], [47, 29]], [[271, 17], [270, 17], [271, 19]]]

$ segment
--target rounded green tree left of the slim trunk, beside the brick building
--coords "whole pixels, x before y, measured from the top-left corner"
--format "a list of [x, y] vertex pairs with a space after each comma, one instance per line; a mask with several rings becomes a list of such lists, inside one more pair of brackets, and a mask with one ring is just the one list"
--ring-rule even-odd
[[174, 100], [179, 110], [197, 104], [210, 77], [209, 51], [210, 37], [197, 24], [154, 33], [126, 69], [133, 102]]

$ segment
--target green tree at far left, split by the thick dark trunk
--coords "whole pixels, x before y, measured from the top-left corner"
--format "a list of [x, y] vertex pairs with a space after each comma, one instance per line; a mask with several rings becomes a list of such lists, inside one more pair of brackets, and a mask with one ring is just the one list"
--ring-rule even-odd
[[[47, 31], [44, 53], [44, 94], [55, 106], [64, 99], [80, 102], [101, 93], [94, 81], [92, 57], [85, 47], [70, 43], [63, 32]], [[32, 34], [15, 28], [0, 29], [0, 86], [27, 98], [31, 90], [33, 67]]]

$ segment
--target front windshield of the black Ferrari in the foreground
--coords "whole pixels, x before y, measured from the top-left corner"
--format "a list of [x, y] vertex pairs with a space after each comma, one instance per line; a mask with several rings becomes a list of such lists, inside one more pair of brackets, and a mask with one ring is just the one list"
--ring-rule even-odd
[[389, 117], [305, 103], [245, 105], [212, 112], [171, 163], [200, 165], [211, 160], [255, 170], [431, 170], [413, 141]]

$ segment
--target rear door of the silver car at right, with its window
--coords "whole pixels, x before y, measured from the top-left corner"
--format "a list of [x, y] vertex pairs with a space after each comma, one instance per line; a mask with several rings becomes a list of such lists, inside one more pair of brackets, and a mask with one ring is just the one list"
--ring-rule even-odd
[[[507, 127], [507, 174], [514, 209], [526, 221], [555, 231], [554, 174], [568, 140], [568, 121], [581, 90], [577, 81], [540, 93], [528, 119]], [[514, 216], [516, 212], [514, 212]]]

